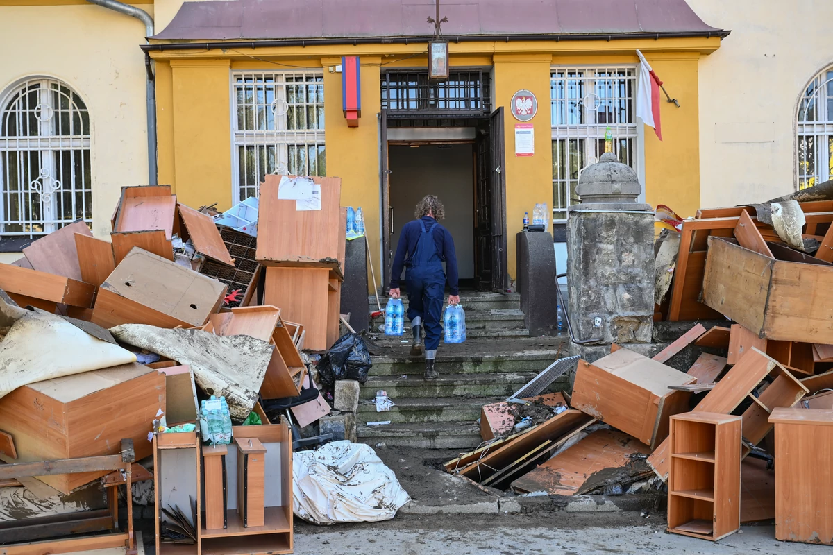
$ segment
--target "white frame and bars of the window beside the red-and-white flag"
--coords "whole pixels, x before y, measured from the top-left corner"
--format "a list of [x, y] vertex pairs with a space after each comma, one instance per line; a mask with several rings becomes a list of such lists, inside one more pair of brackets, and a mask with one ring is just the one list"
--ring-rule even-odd
[[[596, 78], [599, 73], [606, 73], [606, 72], [628, 72], [626, 77], [600, 77]], [[638, 76], [639, 68], [636, 64], [616, 64], [616, 65], [588, 65], [588, 66], [561, 66], [555, 65], [551, 67], [551, 78], [550, 78], [550, 102], [551, 102], [551, 139], [553, 143], [553, 161], [552, 161], [552, 170], [555, 173], [556, 170], [556, 141], [566, 141], [565, 145], [567, 146], [566, 151], [566, 167], [567, 171], [571, 166], [570, 161], [570, 151], [569, 146], [571, 141], [576, 141], [577, 145], [581, 145], [580, 149], [577, 149], [576, 156], [579, 156], [579, 167], [575, 177], [570, 176], [569, 174], [564, 174], [566, 177], [557, 177], [554, 175], [552, 179], [552, 187], [553, 187], [553, 206], [552, 206], [552, 222], [554, 224], [563, 224], [566, 222], [566, 214], [569, 207], [573, 204], [571, 201], [571, 196], [575, 193], [573, 192], [573, 188], [578, 184], [578, 178], [581, 176], [581, 172], [587, 166], [594, 164], [598, 161], [598, 157], [601, 156], [604, 149], [604, 139], [607, 127], [610, 126], [611, 128], [611, 136], [613, 138], [613, 146], [614, 152], [619, 154], [620, 152], [620, 141], [630, 141], [631, 146], [631, 160], [630, 165], [636, 171], [637, 176], [640, 177], [641, 182], [644, 183], [644, 132], [642, 130], [643, 125], [641, 121], [637, 121], [636, 119], [636, 80]], [[563, 77], [556, 76], [553, 77], [555, 73], [563, 73]], [[580, 77], [576, 77], [571, 79], [571, 74], [577, 74]], [[630, 83], [631, 88], [631, 96], [622, 97], [618, 94], [618, 91], [609, 90], [611, 94], [598, 94], [599, 89], [596, 88], [596, 81], [602, 80], [626, 80]], [[575, 96], [570, 95], [568, 92], [568, 87], [572, 84], [576, 85], [577, 82], [581, 82], [583, 86], [582, 91], [576, 91]], [[565, 83], [564, 87], [564, 96], [558, 96], [558, 90], [556, 87], [556, 83], [561, 84]], [[593, 92], [588, 92], [589, 89], [593, 89]], [[579, 92], [583, 92], [583, 94], [579, 94]], [[576, 106], [576, 111], [569, 111], [569, 105], [571, 101]], [[614, 103], [622, 106], [624, 104], [624, 108], [626, 110], [626, 120], [627, 121], [620, 121], [619, 117], [616, 117], [616, 121], [611, 123], [607, 122], [597, 122], [596, 121], [596, 114], [598, 113], [596, 110], [602, 104], [609, 102], [611, 107]], [[571, 114], [575, 114], [576, 117], [570, 117]], [[581, 116], [580, 119], [577, 116]], [[583, 141], [583, 144], [582, 144]], [[601, 151], [596, 151], [599, 148], [599, 143], [601, 142]], [[561, 146], [558, 146], [561, 148]], [[583, 157], [583, 160], [582, 160]], [[561, 204], [561, 202], [556, 202], [559, 200], [556, 197], [556, 188], [561, 187], [563, 188], [561, 191], [566, 193], [566, 202]], [[564, 190], [566, 189], [566, 191]], [[560, 192], [561, 192], [560, 191]], [[641, 198], [644, 198], [644, 191], [641, 194]]]

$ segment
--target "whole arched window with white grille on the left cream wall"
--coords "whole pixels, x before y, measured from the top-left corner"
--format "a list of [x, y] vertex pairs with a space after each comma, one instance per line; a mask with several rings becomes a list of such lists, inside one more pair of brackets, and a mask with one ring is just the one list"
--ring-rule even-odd
[[0, 233], [92, 221], [90, 116], [66, 83], [30, 77], [0, 96]]

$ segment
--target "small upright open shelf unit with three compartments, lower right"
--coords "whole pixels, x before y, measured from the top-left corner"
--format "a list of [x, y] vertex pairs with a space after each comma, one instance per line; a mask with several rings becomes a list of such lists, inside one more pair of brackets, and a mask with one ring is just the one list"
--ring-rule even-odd
[[741, 417], [671, 416], [668, 531], [716, 541], [741, 527]]

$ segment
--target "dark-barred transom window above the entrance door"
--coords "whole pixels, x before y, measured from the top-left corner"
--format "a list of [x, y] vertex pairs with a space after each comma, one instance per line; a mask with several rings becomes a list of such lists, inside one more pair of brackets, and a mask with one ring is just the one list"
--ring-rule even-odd
[[467, 69], [452, 71], [446, 81], [431, 82], [424, 70], [384, 72], [382, 107], [388, 116], [488, 116], [491, 77], [488, 70]]

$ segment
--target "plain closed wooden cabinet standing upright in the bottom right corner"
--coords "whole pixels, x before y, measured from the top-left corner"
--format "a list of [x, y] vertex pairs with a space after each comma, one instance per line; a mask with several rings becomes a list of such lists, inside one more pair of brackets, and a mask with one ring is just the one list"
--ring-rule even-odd
[[833, 544], [833, 412], [775, 409], [776, 538]]

